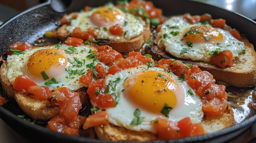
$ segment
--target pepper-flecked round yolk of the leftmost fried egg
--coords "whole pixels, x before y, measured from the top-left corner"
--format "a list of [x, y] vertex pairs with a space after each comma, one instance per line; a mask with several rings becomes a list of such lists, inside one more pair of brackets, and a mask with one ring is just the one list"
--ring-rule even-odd
[[27, 63], [28, 75], [43, 79], [44, 71], [49, 78], [65, 72], [69, 56], [59, 49], [41, 49], [34, 52]]

